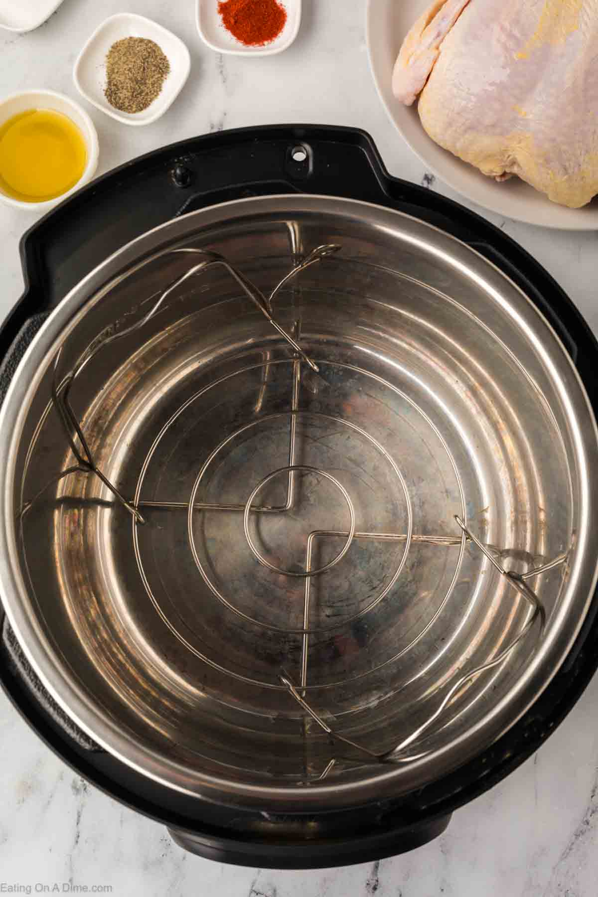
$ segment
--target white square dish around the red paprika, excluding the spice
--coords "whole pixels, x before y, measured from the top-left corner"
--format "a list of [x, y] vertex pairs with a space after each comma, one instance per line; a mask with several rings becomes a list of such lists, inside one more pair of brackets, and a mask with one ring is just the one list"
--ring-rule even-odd
[[197, 30], [204, 44], [216, 53], [245, 57], [273, 56], [275, 53], [282, 53], [282, 50], [290, 48], [299, 34], [301, 0], [279, 0], [279, 2], [286, 10], [287, 21], [278, 37], [269, 44], [246, 47], [238, 39], [233, 38], [222, 24], [221, 14], [218, 12], [218, 0], [196, 0]]

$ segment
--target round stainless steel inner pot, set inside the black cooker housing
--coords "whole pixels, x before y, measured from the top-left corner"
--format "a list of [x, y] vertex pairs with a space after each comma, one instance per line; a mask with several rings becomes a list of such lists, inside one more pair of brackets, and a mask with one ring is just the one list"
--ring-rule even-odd
[[[175, 248], [267, 297], [325, 244], [272, 309], [317, 373], [223, 266], [111, 338], [195, 264]], [[65, 475], [52, 399], [90, 346], [70, 401], [101, 477]], [[471, 248], [364, 203], [220, 205], [108, 258], [30, 346], [0, 457], [2, 601], [42, 681], [109, 752], [230, 805], [437, 779], [542, 692], [594, 591], [597, 434], [568, 354]]]

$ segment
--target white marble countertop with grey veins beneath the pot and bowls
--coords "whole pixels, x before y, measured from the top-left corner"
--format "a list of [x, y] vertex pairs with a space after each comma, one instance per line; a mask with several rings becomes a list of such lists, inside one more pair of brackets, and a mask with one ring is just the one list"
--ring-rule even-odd
[[[26, 0], [23, 0], [26, 2]], [[399, 0], [397, 0], [399, 2]], [[131, 128], [89, 108], [100, 170], [186, 136], [279, 122], [353, 125], [375, 138], [391, 173], [424, 170], [386, 119], [368, 73], [365, 0], [303, 0], [299, 38], [278, 57], [218, 57], [195, 31], [194, 0], [65, 0], [39, 30], [0, 30], [0, 94], [48, 87], [75, 94], [74, 58], [109, 14], [143, 13], [184, 39], [188, 83], [153, 126]], [[434, 188], [450, 195], [442, 184]], [[0, 315], [22, 289], [18, 240], [36, 219], [0, 206]], [[493, 219], [537, 257], [598, 329], [595, 233], [542, 231]], [[593, 277], [594, 274], [594, 277]], [[455, 815], [446, 834], [410, 855], [323, 872], [224, 867], [186, 855], [160, 825], [87, 786], [56, 759], [0, 694], [0, 893], [71, 881], [126, 897], [486, 897], [598, 893], [598, 680], [532, 760]], [[4, 883], [4, 888], [3, 888]], [[13, 891], [13, 893], [16, 893]]]

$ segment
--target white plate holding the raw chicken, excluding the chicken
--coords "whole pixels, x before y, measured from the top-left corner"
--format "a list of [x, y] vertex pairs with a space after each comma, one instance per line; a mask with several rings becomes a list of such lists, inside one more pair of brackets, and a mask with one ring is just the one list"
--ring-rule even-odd
[[524, 181], [498, 183], [435, 144], [420, 124], [417, 104], [406, 107], [394, 98], [391, 74], [403, 38], [430, 0], [368, 0], [367, 42], [369, 65], [377, 91], [399, 134], [427, 169], [473, 203], [507, 218], [567, 231], [598, 229], [598, 200], [583, 209], [568, 209]]

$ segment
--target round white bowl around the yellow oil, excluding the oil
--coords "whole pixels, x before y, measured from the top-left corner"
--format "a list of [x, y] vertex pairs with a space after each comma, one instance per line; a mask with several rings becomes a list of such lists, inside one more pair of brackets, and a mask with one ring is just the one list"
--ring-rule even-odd
[[62, 112], [68, 116], [81, 131], [87, 149], [87, 164], [81, 178], [74, 187], [61, 196], [56, 196], [56, 199], [48, 199], [43, 203], [24, 203], [20, 199], [13, 199], [13, 196], [5, 194], [0, 184], [0, 202], [13, 205], [18, 209], [28, 209], [30, 212], [44, 212], [61, 203], [66, 196], [71, 196], [75, 190], [91, 180], [98, 167], [98, 135], [91, 118], [79, 103], [55, 91], [23, 91], [22, 93], [13, 93], [10, 97], [0, 100], [0, 127], [9, 118], [13, 118], [13, 115], [19, 115], [20, 112], [26, 112], [28, 109], [54, 109], [56, 112]]

